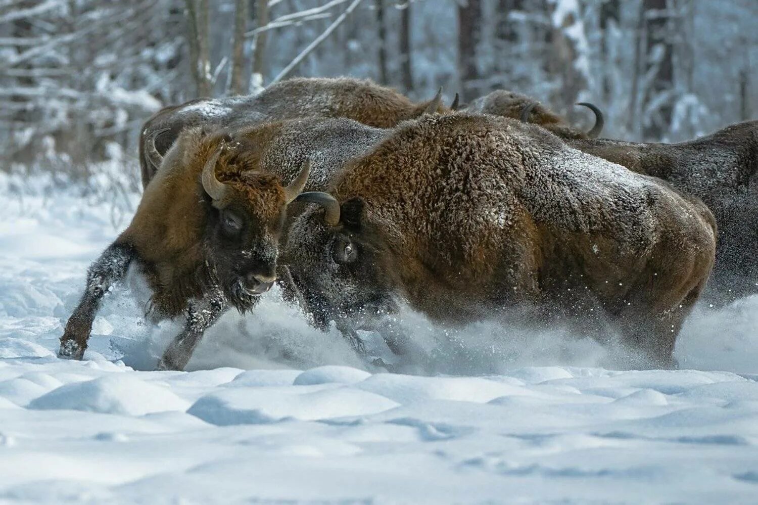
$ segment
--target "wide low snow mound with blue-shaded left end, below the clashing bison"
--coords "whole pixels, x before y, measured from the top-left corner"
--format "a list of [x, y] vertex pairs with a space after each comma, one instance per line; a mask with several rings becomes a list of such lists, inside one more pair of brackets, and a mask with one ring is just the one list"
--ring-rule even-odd
[[245, 425], [290, 418], [368, 416], [396, 406], [398, 403], [378, 394], [346, 387], [269, 387], [265, 390], [236, 387], [200, 398], [187, 413], [214, 425]]

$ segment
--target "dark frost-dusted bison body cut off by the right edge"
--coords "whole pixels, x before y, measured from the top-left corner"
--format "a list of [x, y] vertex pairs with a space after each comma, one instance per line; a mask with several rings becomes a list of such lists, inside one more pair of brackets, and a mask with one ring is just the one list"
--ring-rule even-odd
[[719, 225], [709, 292], [724, 300], [758, 293], [758, 121], [683, 143], [574, 140], [592, 155], [668, 180], [699, 197]]

